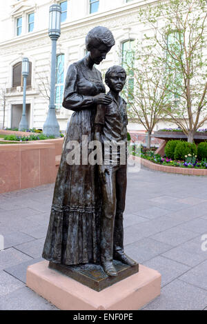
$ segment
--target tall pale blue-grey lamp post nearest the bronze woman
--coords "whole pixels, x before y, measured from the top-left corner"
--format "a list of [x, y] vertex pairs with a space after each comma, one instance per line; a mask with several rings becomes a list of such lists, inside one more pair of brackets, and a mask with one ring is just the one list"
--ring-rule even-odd
[[61, 34], [61, 6], [53, 4], [50, 6], [49, 37], [52, 40], [51, 54], [51, 77], [50, 77], [50, 105], [46, 122], [43, 125], [43, 134], [59, 137], [59, 123], [55, 114], [55, 69], [57, 39]]

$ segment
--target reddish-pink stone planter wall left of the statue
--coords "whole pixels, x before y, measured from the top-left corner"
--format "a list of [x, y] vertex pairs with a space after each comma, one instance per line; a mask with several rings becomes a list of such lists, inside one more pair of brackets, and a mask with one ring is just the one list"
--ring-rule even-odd
[[55, 182], [63, 138], [0, 145], [0, 193]]

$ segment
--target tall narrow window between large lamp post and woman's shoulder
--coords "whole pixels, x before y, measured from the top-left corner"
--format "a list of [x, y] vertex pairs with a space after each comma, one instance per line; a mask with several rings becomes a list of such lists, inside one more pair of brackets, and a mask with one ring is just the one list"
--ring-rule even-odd
[[64, 90], [64, 61], [65, 55], [59, 54], [56, 59], [56, 79], [55, 79], [55, 107], [60, 110], [63, 102]]

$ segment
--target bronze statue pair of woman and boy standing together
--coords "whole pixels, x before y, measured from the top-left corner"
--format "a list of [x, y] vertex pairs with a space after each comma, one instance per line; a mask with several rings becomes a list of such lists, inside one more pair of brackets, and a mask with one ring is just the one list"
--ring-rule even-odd
[[[126, 101], [119, 96], [126, 71], [112, 66], [106, 72], [106, 94], [99, 65], [115, 45], [108, 28], [95, 27], [86, 36], [86, 57], [69, 66], [63, 107], [73, 110], [55, 183], [43, 258], [61, 265], [99, 264], [107, 276], [117, 276], [113, 260], [130, 267], [137, 262], [124, 253], [123, 213], [126, 199], [126, 161], [110, 158], [102, 165], [67, 162], [70, 141], [80, 154], [83, 136], [90, 141], [127, 141]], [[90, 154], [91, 149], [88, 150]], [[107, 152], [110, 155], [110, 152]], [[104, 154], [106, 152], [104, 151]]]

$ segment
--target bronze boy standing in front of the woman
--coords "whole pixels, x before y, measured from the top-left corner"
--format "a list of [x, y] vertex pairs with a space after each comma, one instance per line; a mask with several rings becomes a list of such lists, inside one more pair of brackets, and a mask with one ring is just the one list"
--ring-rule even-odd
[[112, 102], [109, 105], [98, 105], [95, 116], [95, 139], [101, 142], [101, 154], [104, 151], [104, 161], [98, 163], [103, 201], [101, 265], [108, 276], [117, 276], [113, 259], [130, 266], [137, 265], [136, 261], [124, 253], [123, 212], [126, 199], [128, 119], [126, 101], [119, 96], [119, 92], [124, 88], [126, 71], [121, 66], [112, 66], [106, 72], [105, 81], [110, 88], [108, 96]]

